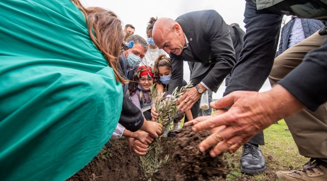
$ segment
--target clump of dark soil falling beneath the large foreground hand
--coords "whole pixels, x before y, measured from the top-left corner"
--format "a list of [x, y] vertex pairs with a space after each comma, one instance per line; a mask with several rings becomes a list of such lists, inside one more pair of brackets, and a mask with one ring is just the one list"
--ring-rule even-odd
[[203, 179], [212, 176], [226, 178], [226, 173], [222, 171], [226, 167], [222, 160], [223, 153], [213, 158], [209, 154], [210, 149], [203, 153], [198, 150], [200, 142], [210, 136], [211, 132], [204, 130], [194, 133], [191, 128], [192, 126], [184, 126], [175, 138], [173, 159], [179, 173], [176, 180], [197, 180], [201, 176]]

